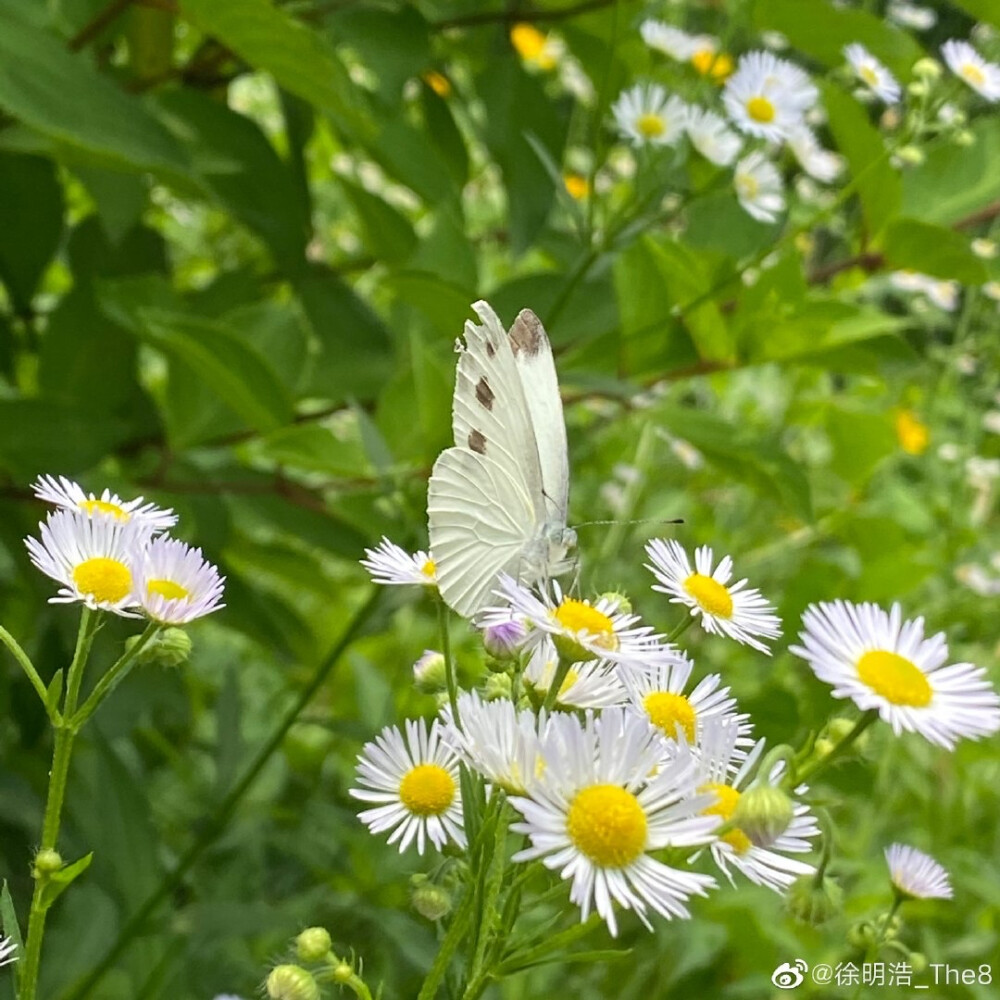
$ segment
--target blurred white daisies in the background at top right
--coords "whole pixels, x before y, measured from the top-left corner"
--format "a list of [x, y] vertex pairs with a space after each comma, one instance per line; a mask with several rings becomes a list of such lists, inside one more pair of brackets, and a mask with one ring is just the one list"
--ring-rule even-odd
[[[824, 149], [811, 127], [823, 118], [819, 91], [800, 66], [763, 49], [734, 63], [721, 51], [718, 38], [689, 34], [661, 21], [644, 21], [640, 32], [650, 48], [722, 84], [722, 91], [712, 106], [702, 106], [659, 83], [635, 84], [612, 107], [618, 131], [632, 145], [677, 146], [686, 137], [705, 159], [733, 167], [740, 204], [766, 223], [775, 222], [786, 205], [777, 162], [783, 148], [814, 180], [830, 183], [840, 174], [841, 157]], [[843, 54], [845, 70], [859, 84], [859, 97], [889, 105], [900, 100], [899, 81], [863, 45], [848, 45]], [[1000, 67], [968, 42], [946, 42], [941, 54], [959, 79], [986, 100], [1000, 100]]]

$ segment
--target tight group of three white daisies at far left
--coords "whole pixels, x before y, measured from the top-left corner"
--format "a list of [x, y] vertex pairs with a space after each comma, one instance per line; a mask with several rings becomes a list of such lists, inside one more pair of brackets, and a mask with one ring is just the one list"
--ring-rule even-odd
[[171, 510], [100, 496], [60, 476], [41, 476], [35, 496], [55, 509], [25, 544], [35, 566], [59, 584], [51, 603], [81, 602], [126, 618], [184, 625], [218, 611], [225, 578], [200, 549], [170, 538]]

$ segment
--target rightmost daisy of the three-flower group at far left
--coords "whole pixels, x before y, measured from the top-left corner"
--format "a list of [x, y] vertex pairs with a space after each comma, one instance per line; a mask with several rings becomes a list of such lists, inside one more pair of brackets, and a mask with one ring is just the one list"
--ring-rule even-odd
[[201, 549], [175, 538], [154, 538], [135, 566], [135, 596], [153, 621], [184, 625], [224, 608], [226, 579]]

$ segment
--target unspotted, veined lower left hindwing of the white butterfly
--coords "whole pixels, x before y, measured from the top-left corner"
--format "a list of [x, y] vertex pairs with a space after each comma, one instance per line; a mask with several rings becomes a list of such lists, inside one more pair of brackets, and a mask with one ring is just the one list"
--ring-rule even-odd
[[525, 484], [502, 464], [469, 448], [438, 456], [427, 517], [438, 589], [449, 607], [471, 618], [489, 604], [501, 572], [518, 576], [538, 530], [534, 514]]

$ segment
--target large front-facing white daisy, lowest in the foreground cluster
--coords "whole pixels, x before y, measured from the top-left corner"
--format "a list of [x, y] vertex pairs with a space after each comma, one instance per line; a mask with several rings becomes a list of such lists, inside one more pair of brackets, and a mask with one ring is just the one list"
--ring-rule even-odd
[[530, 797], [510, 800], [524, 817], [511, 829], [531, 840], [514, 860], [541, 858], [572, 880], [570, 900], [581, 919], [596, 909], [612, 935], [618, 933], [615, 903], [650, 927], [647, 909], [689, 917], [688, 899], [715, 887], [707, 875], [652, 857], [664, 847], [705, 843], [718, 823], [699, 815], [709, 800], [694, 794], [691, 754], [667, 763], [661, 754], [659, 733], [623, 708], [596, 718], [588, 713], [585, 722], [555, 716]]

